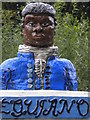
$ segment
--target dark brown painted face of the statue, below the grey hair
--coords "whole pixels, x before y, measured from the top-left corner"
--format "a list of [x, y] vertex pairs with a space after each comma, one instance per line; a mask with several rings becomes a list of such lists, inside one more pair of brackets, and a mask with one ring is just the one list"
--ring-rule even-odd
[[54, 19], [47, 15], [26, 15], [23, 26], [24, 44], [48, 47], [53, 44]]

